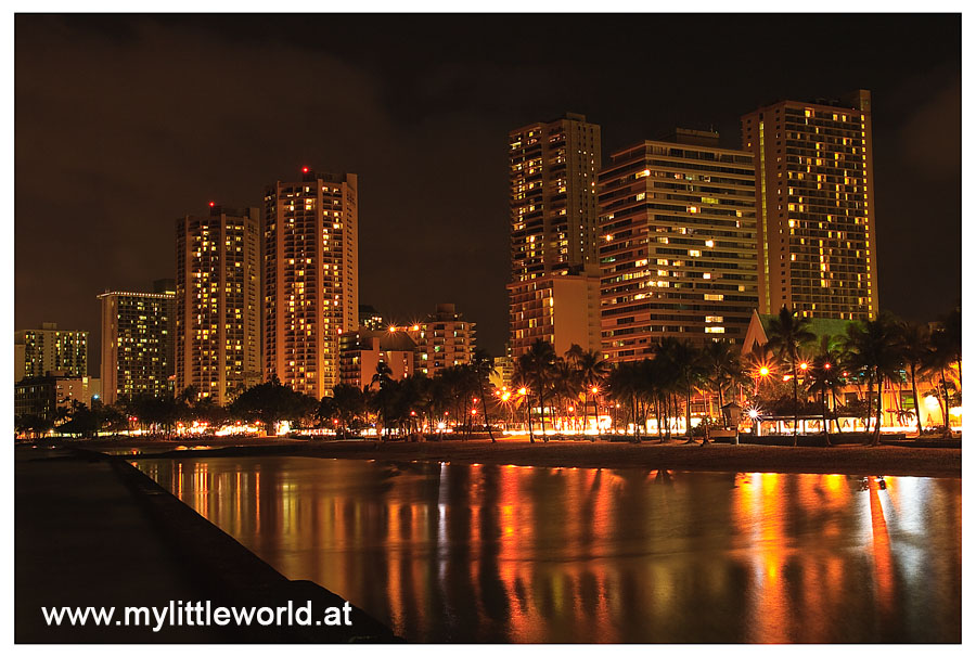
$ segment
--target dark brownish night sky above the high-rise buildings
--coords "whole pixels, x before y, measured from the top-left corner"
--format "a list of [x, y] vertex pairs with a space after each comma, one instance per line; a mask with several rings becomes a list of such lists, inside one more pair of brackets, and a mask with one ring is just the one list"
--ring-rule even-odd
[[91, 332], [175, 275], [175, 220], [359, 175], [360, 302], [453, 301], [503, 353], [506, 134], [565, 112], [614, 150], [676, 125], [740, 146], [778, 100], [872, 92], [882, 309], [961, 296], [959, 15], [15, 18], [15, 327]]

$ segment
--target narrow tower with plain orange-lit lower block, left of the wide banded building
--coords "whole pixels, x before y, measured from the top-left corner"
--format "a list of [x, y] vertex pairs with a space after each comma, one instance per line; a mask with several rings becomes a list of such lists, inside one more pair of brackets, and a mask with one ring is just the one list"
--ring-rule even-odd
[[586, 116], [567, 114], [509, 133], [513, 357], [536, 339], [556, 350], [573, 343], [600, 348], [600, 126]]

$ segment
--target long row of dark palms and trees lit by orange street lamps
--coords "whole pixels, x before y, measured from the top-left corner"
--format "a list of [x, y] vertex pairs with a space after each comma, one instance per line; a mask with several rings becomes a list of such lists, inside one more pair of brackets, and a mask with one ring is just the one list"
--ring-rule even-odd
[[[168, 397], [133, 396], [116, 404], [73, 402], [53, 421], [16, 417], [21, 433], [57, 433], [91, 436], [97, 431], [138, 428], [174, 436], [180, 424], [194, 422], [210, 429], [228, 424], [260, 424], [267, 434], [288, 422], [296, 430], [333, 429], [348, 437], [375, 427], [381, 439], [393, 436], [440, 435], [450, 429], [462, 438], [487, 431], [492, 442], [499, 426], [527, 429], [529, 440], [548, 441], [550, 435], [599, 427], [600, 402], [604, 414], [628, 427], [634, 441], [646, 439], [648, 420], [655, 437], [670, 440], [679, 433], [693, 441], [697, 433], [708, 441], [707, 426], [725, 427], [728, 400], [747, 400], [754, 409], [775, 416], [793, 415], [794, 445], [799, 418], [818, 416], [830, 442], [831, 422], [837, 430], [840, 416], [862, 417], [868, 443], [877, 445], [885, 385], [910, 387], [913, 410], [894, 409], [900, 417], [914, 418], [923, 433], [920, 395], [935, 397], [941, 410], [943, 433], [949, 433], [949, 411], [961, 403], [962, 323], [954, 310], [933, 327], [901, 321], [888, 313], [848, 324], [843, 335], [816, 336], [811, 320], [782, 308], [768, 325], [768, 343], [753, 352], [730, 342], [696, 346], [665, 337], [653, 357], [612, 366], [599, 351], [578, 345], [557, 355], [550, 343], [537, 340], [515, 363], [511, 389], [496, 389], [490, 377], [493, 360], [477, 349], [470, 364], [446, 368], [435, 376], [413, 374], [394, 378], [380, 363], [362, 388], [338, 385], [332, 395], [314, 399], [282, 385], [277, 378], [241, 392], [221, 407], [193, 387]], [[857, 399], [842, 397], [853, 386]], [[704, 404], [705, 417], [692, 427], [693, 400]], [[591, 425], [590, 418], [593, 418]], [[681, 430], [683, 420], [683, 431]], [[730, 427], [734, 428], [734, 427]]]

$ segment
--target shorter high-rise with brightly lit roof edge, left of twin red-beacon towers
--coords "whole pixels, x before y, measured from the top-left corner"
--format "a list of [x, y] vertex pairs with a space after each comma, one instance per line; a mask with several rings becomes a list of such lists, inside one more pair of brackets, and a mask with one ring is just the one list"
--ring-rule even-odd
[[115, 403], [123, 395], [162, 397], [174, 391], [176, 289], [171, 279], [156, 281], [154, 289], [105, 292], [98, 297], [105, 403]]

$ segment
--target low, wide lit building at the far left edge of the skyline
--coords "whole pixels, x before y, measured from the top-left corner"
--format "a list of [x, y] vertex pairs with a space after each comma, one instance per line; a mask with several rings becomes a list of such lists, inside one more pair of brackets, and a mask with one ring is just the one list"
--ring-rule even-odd
[[53, 322], [14, 332], [14, 382], [48, 373], [88, 376], [88, 331], [65, 331]]

